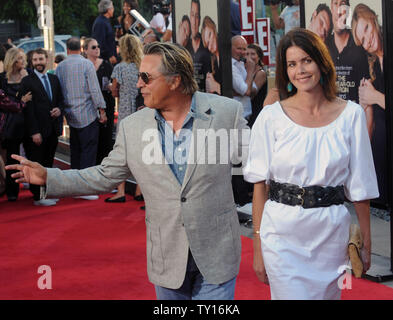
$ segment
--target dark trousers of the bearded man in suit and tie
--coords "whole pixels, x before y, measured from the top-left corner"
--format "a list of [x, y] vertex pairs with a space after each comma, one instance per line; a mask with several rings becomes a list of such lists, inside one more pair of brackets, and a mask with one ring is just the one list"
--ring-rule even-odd
[[[27, 158], [31, 161], [38, 162], [45, 168], [51, 168], [58, 141], [57, 135], [52, 134], [47, 138], [43, 138], [42, 143], [37, 146], [30, 137], [27, 138], [24, 144]], [[30, 184], [30, 191], [35, 201], [40, 200], [40, 186]]]

